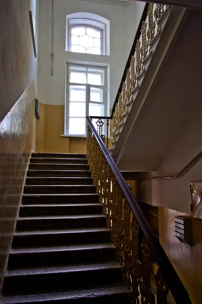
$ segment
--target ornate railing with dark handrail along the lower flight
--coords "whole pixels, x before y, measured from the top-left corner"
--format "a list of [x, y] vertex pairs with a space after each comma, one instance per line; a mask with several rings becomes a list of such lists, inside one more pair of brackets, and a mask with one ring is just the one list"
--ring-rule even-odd
[[[191, 304], [186, 289], [90, 117], [87, 122], [87, 158], [111, 230], [111, 240], [123, 265], [125, 282], [131, 290], [131, 303], [165, 304], [170, 289], [177, 304]], [[159, 267], [154, 280], [156, 293], [151, 288], [154, 283], [151, 280], [152, 259]]]

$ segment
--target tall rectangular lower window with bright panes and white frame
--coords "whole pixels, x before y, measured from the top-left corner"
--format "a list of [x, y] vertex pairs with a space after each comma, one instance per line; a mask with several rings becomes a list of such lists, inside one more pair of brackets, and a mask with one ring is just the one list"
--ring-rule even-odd
[[86, 116], [106, 115], [105, 68], [68, 65], [68, 79], [65, 135], [84, 136]]

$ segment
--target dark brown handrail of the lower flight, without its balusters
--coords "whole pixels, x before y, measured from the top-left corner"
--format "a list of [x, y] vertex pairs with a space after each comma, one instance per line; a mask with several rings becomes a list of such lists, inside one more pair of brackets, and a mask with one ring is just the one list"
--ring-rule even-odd
[[101, 137], [97, 133], [95, 127], [92, 124], [91, 118], [87, 117], [87, 122], [99, 143], [102, 152], [113, 171], [114, 176], [116, 177], [120, 188], [122, 189], [124, 196], [129, 203], [131, 210], [142, 230], [148, 245], [152, 251], [152, 254], [158, 263], [160, 270], [163, 272], [164, 278], [173, 294], [173, 297], [177, 304], [191, 304], [189, 294], [185, 289], [184, 285], [182, 284], [180, 278], [178, 277], [172, 263], [170, 262], [167, 254], [165, 253], [163, 247], [160, 245], [159, 241], [157, 240], [155, 234], [153, 233], [150, 224], [148, 223], [140, 205], [138, 204], [137, 200], [135, 199], [134, 195], [130, 191], [128, 184], [126, 183], [124, 177], [118, 170], [115, 162], [113, 161], [108, 149], [106, 148], [105, 144], [103, 143]]

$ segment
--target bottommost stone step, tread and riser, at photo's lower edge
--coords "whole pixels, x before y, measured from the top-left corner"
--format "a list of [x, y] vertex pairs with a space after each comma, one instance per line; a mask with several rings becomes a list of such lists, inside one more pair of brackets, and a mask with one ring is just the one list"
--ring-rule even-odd
[[122, 285], [103, 286], [99, 288], [72, 290], [56, 293], [41, 293], [33, 295], [22, 296], [4, 296], [2, 297], [2, 304], [25, 304], [34, 303], [68, 303], [68, 304], [130, 304], [130, 291]]

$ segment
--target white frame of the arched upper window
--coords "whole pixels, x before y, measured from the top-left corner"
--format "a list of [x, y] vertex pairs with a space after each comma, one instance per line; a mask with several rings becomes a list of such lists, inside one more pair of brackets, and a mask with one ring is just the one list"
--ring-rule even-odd
[[[92, 20], [92, 19], [85, 19], [85, 18], [73, 18], [73, 19], [68, 19], [68, 30], [67, 30], [67, 51], [71, 52], [71, 29], [74, 27], [90, 27], [95, 30], [100, 31], [100, 55], [106, 55], [106, 24]], [[81, 53], [81, 54], [86, 54], [86, 53]], [[92, 53], [88, 53], [92, 54]], [[92, 54], [95, 55], [95, 54]], [[97, 55], [97, 54], [96, 54]], [[97, 55], [97, 56], [100, 56]]]

